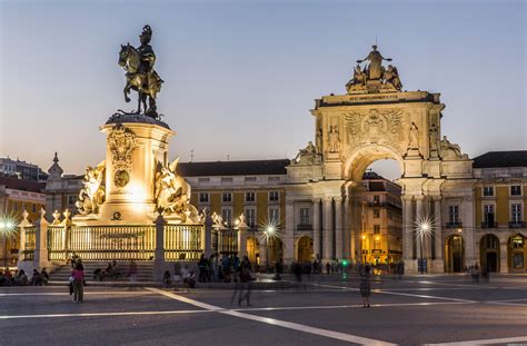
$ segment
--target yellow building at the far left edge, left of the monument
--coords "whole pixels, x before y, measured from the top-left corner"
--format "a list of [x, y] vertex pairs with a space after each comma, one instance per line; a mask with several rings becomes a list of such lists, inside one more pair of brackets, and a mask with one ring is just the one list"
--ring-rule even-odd
[[[12, 216], [19, 223], [22, 220], [23, 210], [26, 210], [29, 214], [29, 220], [37, 220], [40, 208], [46, 205], [46, 195], [42, 192], [44, 186], [44, 182], [0, 177], [0, 212]], [[16, 233], [11, 238], [4, 239], [1, 237], [0, 264], [3, 266], [7, 261], [10, 266], [16, 265], [19, 248], [19, 233]]]

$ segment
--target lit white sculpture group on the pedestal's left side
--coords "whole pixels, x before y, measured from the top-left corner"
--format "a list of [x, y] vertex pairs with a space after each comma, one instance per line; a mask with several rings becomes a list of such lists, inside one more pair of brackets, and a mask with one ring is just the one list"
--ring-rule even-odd
[[96, 168], [86, 169], [83, 188], [79, 192], [79, 199], [76, 202], [81, 215], [98, 214], [99, 206], [105, 202], [105, 177], [106, 162], [100, 162]]

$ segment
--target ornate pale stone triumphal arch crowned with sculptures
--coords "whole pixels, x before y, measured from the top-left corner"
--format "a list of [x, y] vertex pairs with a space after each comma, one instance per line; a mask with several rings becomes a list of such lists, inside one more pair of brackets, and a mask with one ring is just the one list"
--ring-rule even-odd
[[[454, 202], [461, 209], [466, 263], [475, 261], [471, 160], [441, 134], [440, 95], [402, 90], [397, 68], [384, 61], [391, 59], [374, 46], [357, 60], [346, 93], [316, 100], [315, 144], [309, 141], [288, 167], [286, 261], [294, 259], [295, 244], [304, 236], [311, 237], [314, 256], [324, 263], [360, 261], [360, 201], [355, 196], [366, 168], [379, 159], [396, 160], [401, 171], [406, 270], [416, 271], [421, 257], [428, 271], [445, 270], [445, 239], [460, 231], [445, 227]], [[296, 218], [306, 205], [312, 210], [312, 230], [298, 230]], [[421, 220], [429, 220], [428, 233], [416, 231]]]

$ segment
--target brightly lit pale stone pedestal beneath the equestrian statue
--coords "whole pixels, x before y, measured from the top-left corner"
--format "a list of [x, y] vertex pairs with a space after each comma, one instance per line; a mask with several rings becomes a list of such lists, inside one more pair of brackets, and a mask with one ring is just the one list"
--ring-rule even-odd
[[141, 115], [115, 116], [100, 127], [107, 135], [106, 191], [97, 219], [76, 217], [86, 225], [151, 225], [157, 217], [155, 179], [167, 164], [166, 123]]

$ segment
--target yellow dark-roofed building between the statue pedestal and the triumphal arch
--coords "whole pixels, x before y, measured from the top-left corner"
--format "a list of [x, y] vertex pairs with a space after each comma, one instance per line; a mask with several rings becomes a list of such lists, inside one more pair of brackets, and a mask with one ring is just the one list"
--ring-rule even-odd
[[266, 225], [275, 225], [278, 233], [285, 226], [286, 166], [289, 160], [251, 160], [217, 162], [180, 162], [178, 174], [192, 188], [191, 204], [199, 210], [221, 215], [231, 221], [241, 214], [249, 226], [247, 253], [255, 263], [265, 263], [267, 251], [271, 261], [282, 258], [279, 238], [260, 241], [259, 233]]

